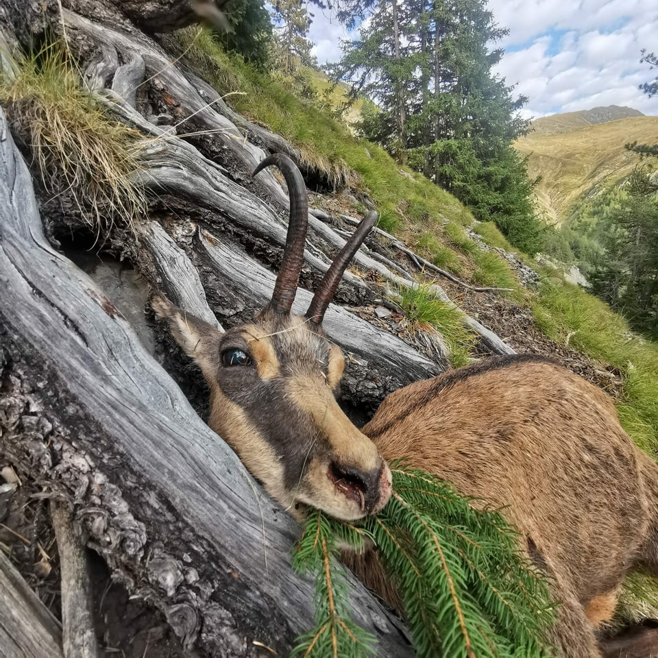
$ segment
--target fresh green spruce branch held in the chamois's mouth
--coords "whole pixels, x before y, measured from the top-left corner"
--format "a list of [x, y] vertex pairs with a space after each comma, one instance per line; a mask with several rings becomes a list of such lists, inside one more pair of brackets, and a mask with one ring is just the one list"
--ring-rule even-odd
[[315, 572], [317, 631], [293, 653], [314, 658], [371, 653], [374, 638], [349, 618], [336, 541], [363, 551], [370, 537], [398, 586], [417, 655], [545, 658], [555, 620], [546, 577], [520, 552], [498, 511], [478, 510], [447, 483], [391, 465], [393, 495], [378, 516], [342, 524], [309, 515], [293, 556]]

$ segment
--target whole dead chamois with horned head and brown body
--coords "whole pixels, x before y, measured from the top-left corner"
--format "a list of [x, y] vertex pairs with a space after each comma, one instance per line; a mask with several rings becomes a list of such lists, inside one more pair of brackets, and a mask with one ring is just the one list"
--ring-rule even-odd
[[307, 505], [341, 520], [376, 514], [391, 495], [390, 459], [501, 507], [521, 549], [550, 575], [561, 655], [600, 657], [596, 629], [611, 618], [624, 576], [634, 566], [658, 575], [658, 464], [635, 448], [605, 393], [534, 356], [415, 382], [358, 430], [336, 401], [345, 359], [322, 319], [376, 213], [338, 254], [306, 317], [291, 315], [308, 202], [287, 156], [265, 158], [254, 175], [271, 164], [288, 184], [290, 219], [267, 307], [221, 333], [161, 296], [153, 302], [208, 381], [210, 427], [297, 517]]

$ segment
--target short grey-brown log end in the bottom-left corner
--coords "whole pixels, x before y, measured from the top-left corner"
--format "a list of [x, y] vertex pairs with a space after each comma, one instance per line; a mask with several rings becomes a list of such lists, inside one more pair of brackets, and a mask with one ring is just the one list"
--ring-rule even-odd
[[0, 658], [64, 658], [62, 629], [0, 550]]

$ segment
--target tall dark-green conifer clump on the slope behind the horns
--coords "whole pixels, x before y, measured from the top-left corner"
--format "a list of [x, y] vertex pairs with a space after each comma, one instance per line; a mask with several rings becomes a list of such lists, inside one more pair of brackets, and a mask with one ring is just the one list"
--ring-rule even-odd
[[532, 183], [511, 147], [528, 128], [517, 114], [526, 99], [491, 71], [502, 50], [490, 45], [507, 31], [485, 0], [382, 0], [371, 9], [361, 38], [329, 69], [380, 109], [364, 117], [365, 136], [536, 252]]

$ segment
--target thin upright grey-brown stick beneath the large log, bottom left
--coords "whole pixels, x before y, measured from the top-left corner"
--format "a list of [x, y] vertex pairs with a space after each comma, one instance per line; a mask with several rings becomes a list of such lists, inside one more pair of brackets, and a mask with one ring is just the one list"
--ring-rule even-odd
[[50, 502], [62, 574], [62, 626], [65, 658], [97, 658], [93, 594], [89, 566], [80, 537], [73, 528], [73, 515], [66, 505]]

